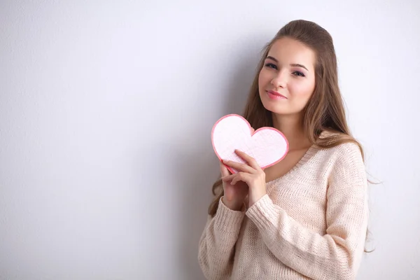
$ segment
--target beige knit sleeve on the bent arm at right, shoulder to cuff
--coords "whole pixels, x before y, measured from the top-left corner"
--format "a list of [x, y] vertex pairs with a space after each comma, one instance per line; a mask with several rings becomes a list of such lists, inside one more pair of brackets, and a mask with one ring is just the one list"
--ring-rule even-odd
[[246, 211], [267, 248], [311, 279], [355, 279], [367, 230], [367, 179], [358, 146], [342, 144], [332, 164], [325, 235], [305, 228], [265, 195]]

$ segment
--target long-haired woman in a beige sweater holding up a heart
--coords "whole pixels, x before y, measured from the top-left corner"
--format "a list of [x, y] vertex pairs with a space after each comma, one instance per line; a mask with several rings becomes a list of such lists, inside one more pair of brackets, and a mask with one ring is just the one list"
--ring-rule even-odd
[[[328, 31], [295, 20], [266, 46], [244, 118], [288, 139], [265, 170], [221, 163], [200, 238], [207, 279], [355, 279], [367, 232], [363, 149], [351, 137]], [[225, 165], [239, 172], [230, 174]]]

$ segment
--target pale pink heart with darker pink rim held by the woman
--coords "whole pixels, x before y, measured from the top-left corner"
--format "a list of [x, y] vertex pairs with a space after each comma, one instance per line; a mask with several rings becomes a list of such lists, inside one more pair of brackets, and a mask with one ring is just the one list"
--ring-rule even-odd
[[[211, 144], [219, 160], [244, 163], [235, 149], [250, 155], [262, 169], [275, 165], [288, 153], [288, 141], [274, 127], [252, 127], [242, 116], [230, 114], [219, 119], [211, 130]], [[228, 167], [228, 166], [227, 166]], [[228, 167], [232, 174], [237, 170]]]

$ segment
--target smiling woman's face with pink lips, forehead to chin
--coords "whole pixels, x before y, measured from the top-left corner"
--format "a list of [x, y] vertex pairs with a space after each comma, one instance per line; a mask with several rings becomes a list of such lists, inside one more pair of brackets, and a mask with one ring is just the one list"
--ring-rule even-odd
[[300, 113], [315, 88], [316, 55], [291, 38], [277, 40], [258, 77], [262, 105], [279, 115]]

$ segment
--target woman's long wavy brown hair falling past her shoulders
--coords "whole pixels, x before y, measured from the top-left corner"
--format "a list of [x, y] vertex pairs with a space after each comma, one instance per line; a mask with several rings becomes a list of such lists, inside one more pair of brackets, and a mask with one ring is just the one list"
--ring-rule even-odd
[[[242, 116], [248, 120], [255, 130], [260, 127], [273, 127], [272, 112], [265, 109], [260, 99], [258, 76], [270, 48], [283, 37], [300, 41], [314, 50], [316, 54], [315, 88], [309, 102], [303, 109], [304, 133], [307, 134], [311, 144], [319, 148], [332, 148], [339, 144], [353, 142], [360, 148], [364, 161], [363, 147], [351, 136], [346, 122], [344, 102], [338, 85], [337, 57], [332, 37], [328, 31], [314, 22], [307, 20], [288, 22], [265, 45]], [[327, 134], [328, 137], [320, 138], [319, 135], [324, 131], [333, 133]], [[214, 183], [212, 192], [215, 197], [209, 206], [209, 215], [214, 217], [218, 209], [218, 202], [224, 195], [221, 179]]]

